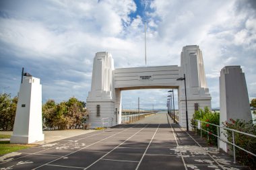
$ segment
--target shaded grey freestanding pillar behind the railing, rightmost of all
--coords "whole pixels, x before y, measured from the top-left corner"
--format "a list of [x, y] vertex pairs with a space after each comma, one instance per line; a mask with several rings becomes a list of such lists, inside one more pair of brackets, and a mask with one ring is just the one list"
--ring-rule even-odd
[[[220, 71], [220, 126], [230, 119], [252, 120], [245, 73], [240, 66], [226, 66]], [[220, 128], [221, 138], [226, 139]], [[220, 148], [227, 152], [228, 145], [220, 141]]]

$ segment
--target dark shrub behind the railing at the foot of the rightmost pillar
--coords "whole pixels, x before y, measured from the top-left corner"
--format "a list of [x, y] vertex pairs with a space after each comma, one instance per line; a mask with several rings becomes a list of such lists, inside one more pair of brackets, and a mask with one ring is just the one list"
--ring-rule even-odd
[[[253, 124], [252, 121], [245, 122], [244, 120], [232, 120], [230, 119], [229, 122], [223, 123], [226, 128], [231, 128], [234, 130], [238, 130], [241, 132], [246, 132], [249, 134], [256, 135], [256, 125]], [[232, 142], [232, 131], [226, 130], [225, 136], [228, 138], [229, 142]], [[241, 148], [244, 148], [247, 151], [250, 151], [251, 153], [256, 153], [256, 138], [253, 138], [251, 136], [241, 134], [238, 132], [234, 132], [234, 142], [237, 146], [240, 146]], [[233, 151], [233, 146], [229, 144], [230, 149]], [[246, 153], [245, 151], [242, 151], [239, 148], [236, 148], [236, 160], [243, 165], [248, 165], [251, 167], [255, 167], [256, 165], [256, 157], [253, 155], [250, 155], [249, 153]]]

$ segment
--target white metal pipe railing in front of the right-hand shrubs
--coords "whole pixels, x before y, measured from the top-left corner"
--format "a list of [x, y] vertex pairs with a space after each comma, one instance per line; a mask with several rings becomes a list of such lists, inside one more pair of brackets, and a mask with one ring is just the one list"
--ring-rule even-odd
[[[201, 126], [202, 124], [209, 124], [209, 125], [215, 126], [217, 128], [217, 134], [214, 134], [214, 133], [210, 132], [209, 128], [207, 128], [207, 130], [203, 129], [202, 126]], [[191, 126], [195, 129], [195, 133], [197, 133], [197, 130], [200, 130], [200, 136], [201, 137], [202, 137], [202, 131], [207, 132], [208, 140], [209, 140], [209, 135], [215, 136], [218, 139], [218, 149], [220, 149], [220, 140], [222, 140], [223, 142], [226, 142], [228, 144], [231, 144], [233, 146], [234, 163], [236, 163], [236, 148], [239, 148], [242, 151], [245, 151], [246, 153], [249, 153], [249, 154], [253, 155], [254, 157], [256, 157], [255, 153], [251, 153], [250, 151], [247, 151], [245, 148], [241, 148], [240, 146], [237, 146], [235, 144], [235, 140], [234, 140], [234, 135], [235, 135], [234, 132], [240, 133], [240, 134], [245, 134], [247, 136], [251, 136], [253, 138], [256, 138], [256, 136], [253, 135], [253, 134], [248, 134], [246, 132], [241, 132], [241, 131], [238, 131], [238, 130], [226, 128], [226, 127], [219, 126], [219, 125], [216, 125], [216, 124], [211, 124], [209, 122], [203, 122], [201, 120], [195, 120], [195, 126], [193, 126], [192, 124], [191, 124]], [[232, 142], [229, 142], [228, 140], [220, 137], [220, 128], [222, 128], [224, 130], [230, 130], [232, 132]]]

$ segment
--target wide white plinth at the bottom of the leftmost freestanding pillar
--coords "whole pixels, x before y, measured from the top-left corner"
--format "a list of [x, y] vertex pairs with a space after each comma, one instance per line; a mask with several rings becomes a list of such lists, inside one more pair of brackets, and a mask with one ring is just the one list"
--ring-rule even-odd
[[36, 134], [34, 136], [11, 135], [10, 141], [11, 143], [30, 144], [42, 140], [44, 140], [44, 134]]

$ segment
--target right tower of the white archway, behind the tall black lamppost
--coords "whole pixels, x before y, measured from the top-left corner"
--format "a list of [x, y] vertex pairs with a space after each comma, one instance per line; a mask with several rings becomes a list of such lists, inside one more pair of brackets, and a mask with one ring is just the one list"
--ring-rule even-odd
[[[211, 109], [211, 95], [207, 88], [205, 70], [203, 66], [203, 56], [199, 46], [184, 46], [181, 52], [181, 72], [180, 77], [186, 78], [187, 89], [187, 110], [189, 129], [191, 128], [191, 118], [195, 113], [195, 104], [203, 109]], [[179, 124], [187, 127], [186, 105], [185, 105], [185, 84], [184, 80], [179, 83]]]

